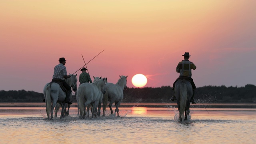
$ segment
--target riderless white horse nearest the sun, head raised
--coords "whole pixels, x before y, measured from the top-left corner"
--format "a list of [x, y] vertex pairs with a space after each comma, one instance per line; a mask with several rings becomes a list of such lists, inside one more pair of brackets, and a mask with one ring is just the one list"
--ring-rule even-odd
[[108, 104], [111, 114], [113, 114], [112, 104], [115, 103], [117, 116], [119, 116], [119, 105], [124, 98], [123, 91], [127, 89], [127, 77], [128, 76], [119, 76], [120, 79], [116, 84], [106, 83], [106, 93], [103, 96], [103, 116], [105, 116], [106, 107]]

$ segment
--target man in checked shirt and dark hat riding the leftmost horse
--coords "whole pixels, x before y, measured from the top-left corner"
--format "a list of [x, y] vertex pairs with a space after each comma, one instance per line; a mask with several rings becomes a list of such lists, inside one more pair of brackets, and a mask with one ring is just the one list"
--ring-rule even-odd
[[[64, 79], [70, 78], [67, 74], [66, 70], [66, 60], [65, 58], [60, 58], [59, 59], [60, 64], [56, 65], [54, 67], [54, 73], [52, 76], [52, 82], [57, 82], [57, 83], [62, 83], [64, 88], [66, 88], [66, 98], [65, 98], [65, 103], [72, 104], [72, 102], [69, 99], [69, 96], [71, 94], [71, 87], [66, 83]], [[43, 100], [45, 102], [45, 99]]]

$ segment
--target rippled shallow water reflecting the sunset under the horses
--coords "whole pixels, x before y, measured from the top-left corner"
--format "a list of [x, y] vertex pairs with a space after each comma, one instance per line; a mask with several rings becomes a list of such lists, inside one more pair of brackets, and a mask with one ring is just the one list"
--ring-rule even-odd
[[[115, 109], [115, 108], [114, 108]], [[185, 122], [176, 108], [120, 108], [120, 117], [48, 120], [44, 107], [0, 107], [0, 144], [108, 143], [254, 144], [256, 109], [191, 108]]]

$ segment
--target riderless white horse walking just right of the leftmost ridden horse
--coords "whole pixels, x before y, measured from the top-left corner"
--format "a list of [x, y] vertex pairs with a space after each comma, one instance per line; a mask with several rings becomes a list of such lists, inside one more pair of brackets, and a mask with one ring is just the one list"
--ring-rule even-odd
[[105, 78], [96, 80], [93, 83], [83, 83], [78, 87], [76, 94], [78, 95], [78, 104], [80, 108], [80, 118], [85, 118], [86, 107], [87, 117], [89, 117], [89, 109], [92, 105], [92, 118], [96, 115], [96, 108], [100, 100], [100, 93], [105, 94]]

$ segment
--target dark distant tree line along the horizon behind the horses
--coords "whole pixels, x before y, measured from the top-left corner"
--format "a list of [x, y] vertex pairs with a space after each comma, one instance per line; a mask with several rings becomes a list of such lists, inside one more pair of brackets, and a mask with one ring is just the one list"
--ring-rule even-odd
[[[174, 95], [172, 87], [160, 88], [127, 88], [122, 102], [133, 103], [170, 103]], [[0, 91], [0, 102], [42, 102], [44, 94], [26, 91]], [[196, 89], [195, 100], [204, 103], [256, 102], [256, 86], [247, 84], [244, 87], [203, 86]], [[76, 102], [75, 96], [72, 101]]]

